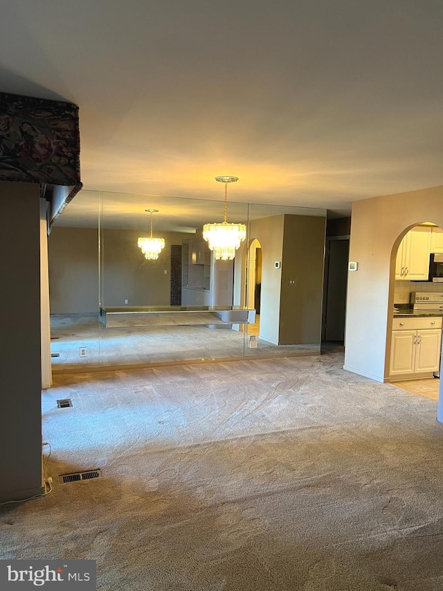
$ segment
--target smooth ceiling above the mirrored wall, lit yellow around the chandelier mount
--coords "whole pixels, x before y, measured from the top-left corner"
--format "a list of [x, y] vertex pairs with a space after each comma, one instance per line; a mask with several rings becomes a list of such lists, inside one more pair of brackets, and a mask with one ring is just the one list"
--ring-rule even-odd
[[86, 189], [219, 200], [236, 175], [231, 201], [346, 215], [443, 184], [440, 0], [15, 0], [1, 22], [0, 90], [79, 105]]

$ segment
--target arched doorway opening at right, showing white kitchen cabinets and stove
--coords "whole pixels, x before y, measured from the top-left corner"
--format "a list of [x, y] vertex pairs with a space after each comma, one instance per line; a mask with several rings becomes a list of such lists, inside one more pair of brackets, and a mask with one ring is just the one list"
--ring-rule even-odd
[[[439, 256], [443, 261], [443, 230], [432, 222], [406, 228], [395, 241], [390, 278], [394, 309], [386, 349], [389, 380], [400, 386], [405, 382], [406, 389], [426, 392], [435, 400], [439, 382], [433, 377], [440, 377], [443, 315]], [[415, 380], [420, 380], [418, 389]]]

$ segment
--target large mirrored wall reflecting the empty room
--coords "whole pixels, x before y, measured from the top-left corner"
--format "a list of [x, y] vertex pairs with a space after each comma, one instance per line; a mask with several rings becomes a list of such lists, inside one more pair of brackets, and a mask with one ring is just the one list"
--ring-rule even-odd
[[48, 240], [53, 369], [319, 354], [326, 211], [227, 214], [246, 239], [223, 261], [202, 236], [223, 202], [81, 191]]

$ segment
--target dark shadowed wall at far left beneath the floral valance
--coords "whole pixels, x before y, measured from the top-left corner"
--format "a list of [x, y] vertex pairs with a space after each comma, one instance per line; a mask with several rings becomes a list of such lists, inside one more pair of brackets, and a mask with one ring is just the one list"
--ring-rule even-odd
[[42, 488], [39, 185], [0, 182], [0, 502]]

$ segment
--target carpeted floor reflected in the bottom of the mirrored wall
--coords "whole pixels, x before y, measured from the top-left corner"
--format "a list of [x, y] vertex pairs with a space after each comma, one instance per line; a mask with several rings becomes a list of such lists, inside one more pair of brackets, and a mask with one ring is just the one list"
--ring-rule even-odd
[[[156, 364], [187, 360], [239, 358], [251, 355], [318, 355], [319, 344], [274, 345], [258, 337], [260, 324], [251, 333], [206, 326], [156, 326], [105, 328], [98, 315], [51, 315], [53, 369]], [[255, 336], [256, 347], [249, 347]], [[86, 347], [86, 356], [80, 349]]]

